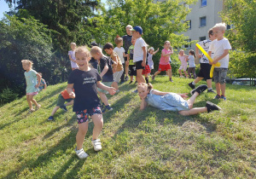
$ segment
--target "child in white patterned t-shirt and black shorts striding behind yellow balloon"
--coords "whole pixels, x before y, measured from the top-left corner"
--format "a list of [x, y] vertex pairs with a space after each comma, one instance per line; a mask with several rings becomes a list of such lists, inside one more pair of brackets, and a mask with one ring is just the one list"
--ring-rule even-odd
[[[208, 52], [209, 46], [212, 43], [212, 40], [215, 39], [215, 37], [212, 34], [212, 29], [208, 31], [209, 39], [203, 40], [199, 42], [198, 44]], [[212, 90], [212, 78], [210, 77], [210, 71], [211, 71], [211, 65], [209, 64], [209, 60], [207, 59], [206, 55], [199, 54], [199, 49], [197, 46], [195, 46], [195, 55], [200, 57], [200, 71], [197, 74], [197, 78], [191, 83], [189, 83], [189, 87], [193, 90], [195, 89], [195, 84], [200, 82], [203, 78], [207, 79], [207, 86], [208, 86], [208, 93], [215, 93], [214, 90]]]

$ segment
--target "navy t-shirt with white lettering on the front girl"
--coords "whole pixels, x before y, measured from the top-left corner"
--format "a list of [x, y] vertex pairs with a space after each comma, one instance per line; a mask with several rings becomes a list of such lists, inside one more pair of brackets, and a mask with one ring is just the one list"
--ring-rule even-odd
[[101, 105], [97, 95], [96, 83], [101, 81], [101, 76], [94, 68], [90, 71], [81, 71], [79, 69], [71, 72], [67, 84], [73, 84], [75, 99], [73, 103], [73, 112], [84, 111]]

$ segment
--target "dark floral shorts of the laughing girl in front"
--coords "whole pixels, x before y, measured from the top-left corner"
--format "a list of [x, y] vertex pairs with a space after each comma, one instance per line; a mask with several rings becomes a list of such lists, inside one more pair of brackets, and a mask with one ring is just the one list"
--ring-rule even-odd
[[76, 112], [78, 124], [82, 124], [88, 121], [88, 115], [102, 114], [101, 107], [93, 107], [90, 109], [84, 109], [84, 111]]

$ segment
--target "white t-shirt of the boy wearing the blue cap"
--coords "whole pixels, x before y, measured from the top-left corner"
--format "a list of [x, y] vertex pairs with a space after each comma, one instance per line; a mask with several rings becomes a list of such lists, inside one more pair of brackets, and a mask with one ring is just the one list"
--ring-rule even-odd
[[143, 38], [137, 38], [136, 43], [134, 44], [133, 62], [143, 61], [143, 47], [146, 48], [147, 55], [147, 43], [145, 43]]

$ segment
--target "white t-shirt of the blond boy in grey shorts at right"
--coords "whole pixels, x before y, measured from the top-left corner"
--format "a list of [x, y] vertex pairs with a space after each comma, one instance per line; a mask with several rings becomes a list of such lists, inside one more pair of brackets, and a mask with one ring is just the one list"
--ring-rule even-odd
[[[224, 54], [224, 49], [231, 49], [230, 42], [227, 38], [223, 38], [221, 40], [213, 40], [209, 51], [213, 51], [213, 59], [218, 58], [218, 56], [221, 56]], [[220, 66], [215, 66], [217, 68], [228, 68], [229, 67], [229, 61], [230, 61], [230, 55], [225, 55], [223, 59], [218, 61], [220, 63]]]

